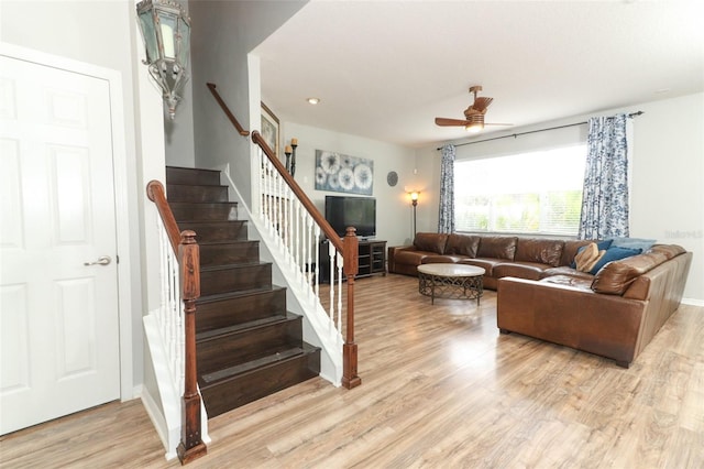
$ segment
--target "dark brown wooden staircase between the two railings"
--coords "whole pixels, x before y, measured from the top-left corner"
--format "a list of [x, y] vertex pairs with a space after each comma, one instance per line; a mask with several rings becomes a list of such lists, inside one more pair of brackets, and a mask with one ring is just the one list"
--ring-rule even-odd
[[200, 246], [196, 350], [208, 417], [317, 377], [320, 349], [302, 340], [302, 317], [286, 310], [286, 288], [272, 285], [220, 173], [167, 167], [166, 193], [179, 230]]

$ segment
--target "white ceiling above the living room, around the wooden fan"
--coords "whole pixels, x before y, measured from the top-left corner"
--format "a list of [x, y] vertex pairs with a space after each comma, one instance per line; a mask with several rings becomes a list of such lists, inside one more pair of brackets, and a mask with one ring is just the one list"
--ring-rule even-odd
[[466, 137], [433, 120], [471, 85], [515, 127], [704, 91], [703, 24], [701, 0], [312, 1], [255, 53], [280, 119], [417, 148]]

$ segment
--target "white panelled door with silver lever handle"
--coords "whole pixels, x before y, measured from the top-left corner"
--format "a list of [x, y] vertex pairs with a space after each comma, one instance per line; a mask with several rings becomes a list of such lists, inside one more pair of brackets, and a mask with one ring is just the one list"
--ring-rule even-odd
[[0, 56], [0, 434], [120, 396], [109, 94]]

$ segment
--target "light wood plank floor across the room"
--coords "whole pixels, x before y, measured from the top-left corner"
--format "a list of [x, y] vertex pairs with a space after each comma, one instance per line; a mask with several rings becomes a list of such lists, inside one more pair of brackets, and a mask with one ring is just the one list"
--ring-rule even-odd
[[[682, 306], [630, 369], [499, 336], [496, 295], [356, 282], [362, 385], [314, 379], [210, 421], [193, 468], [702, 468], [704, 308]], [[578, 307], [578, 305], [575, 305]], [[141, 402], [0, 439], [0, 466], [178, 467]]]

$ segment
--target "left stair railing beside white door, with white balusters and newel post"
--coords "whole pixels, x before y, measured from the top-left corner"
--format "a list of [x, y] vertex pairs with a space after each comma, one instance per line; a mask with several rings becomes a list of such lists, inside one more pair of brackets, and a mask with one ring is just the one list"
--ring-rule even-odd
[[168, 343], [172, 378], [183, 391], [182, 439], [177, 454], [185, 465], [207, 452], [201, 439], [201, 397], [196, 370], [196, 299], [200, 296], [200, 251], [194, 231], [179, 232], [162, 183], [150, 182], [146, 194], [160, 214], [162, 305], [158, 323], [162, 337]]

